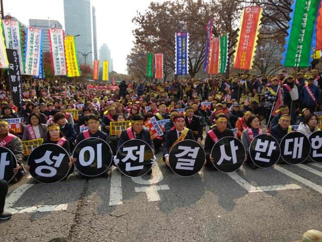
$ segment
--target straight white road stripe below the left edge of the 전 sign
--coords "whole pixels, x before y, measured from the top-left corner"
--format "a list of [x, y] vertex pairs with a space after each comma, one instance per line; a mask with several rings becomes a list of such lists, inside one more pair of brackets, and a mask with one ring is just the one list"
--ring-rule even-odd
[[114, 167], [111, 175], [111, 185], [110, 185], [110, 206], [121, 205], [122, 196], [122, 178], [121, 173], [118, 168]]

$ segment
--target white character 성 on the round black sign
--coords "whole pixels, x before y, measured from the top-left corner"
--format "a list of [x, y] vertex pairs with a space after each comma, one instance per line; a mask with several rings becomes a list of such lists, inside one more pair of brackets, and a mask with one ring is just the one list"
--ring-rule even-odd
[[[48, 165], [40, 165], [35, 169], [35, 172], [40, 175], [40, 176], [44, 176], [44, 177], [52, 177], [54, 175], [56, 175], [57, 170], [54, 168], [58, 168], [63, 160], [63, 158], [65, 157], [65, 154], [59, 154], [57, 155], [53, 155], [51, 158], [51, 153], [52, 151], [47, 150], [46, 153], [44, 154], [43, 157], [39, 158], [39, 159], [35, 159], [35, 163], [41, 163], [41, 162], [46, 162]], [[55, 160], [56, 162], [52, 161]], [[51, 165], [54, 164], [54, 167], [52, 167]], [[43, 169], [49, 170], [50, 173], [44, 173], [42, 172]]]

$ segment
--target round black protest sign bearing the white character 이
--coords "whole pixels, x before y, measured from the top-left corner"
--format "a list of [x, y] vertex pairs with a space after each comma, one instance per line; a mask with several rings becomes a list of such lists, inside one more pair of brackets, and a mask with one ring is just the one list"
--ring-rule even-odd
[[73, 157], [77, 159], [74, 165], [79, 173], [98, 176], [111, 166], [113, 155], [108, 143], [92, 137], [82, 140], [76, 145]]

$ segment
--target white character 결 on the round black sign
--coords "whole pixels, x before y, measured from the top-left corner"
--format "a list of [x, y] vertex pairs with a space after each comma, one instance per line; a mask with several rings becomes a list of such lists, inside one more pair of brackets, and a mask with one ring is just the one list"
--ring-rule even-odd
[[[179, 158], [176, 169], [193, 170], [199, 149], [200, 147], [179, 146], [178, 150], [183, 150], [183, 152], [176, 154], [176, 157], [186, 156], [187, 158]], [[191, 159], [188, 157], [191, 157]]]

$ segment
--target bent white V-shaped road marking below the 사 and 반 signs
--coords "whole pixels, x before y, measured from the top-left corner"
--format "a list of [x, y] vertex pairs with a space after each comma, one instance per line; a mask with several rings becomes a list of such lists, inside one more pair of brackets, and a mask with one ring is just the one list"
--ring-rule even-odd
[[238, 183], [241, 187], [245, 188], [249, 193], [256, 192], [270, 192], [270, 191], [280, 191], [280, 190], [288, 190], [288, 189], [300, 189], [301, 187], [296, 184], [287, 184], [287, 185], [273, 185], [273, 186], [263, 186], [256, 187], [248, 183], [245, 179], [241, 178], [236, 172], [227, 173], [230, 178], [232, 178], [236, 183]]

